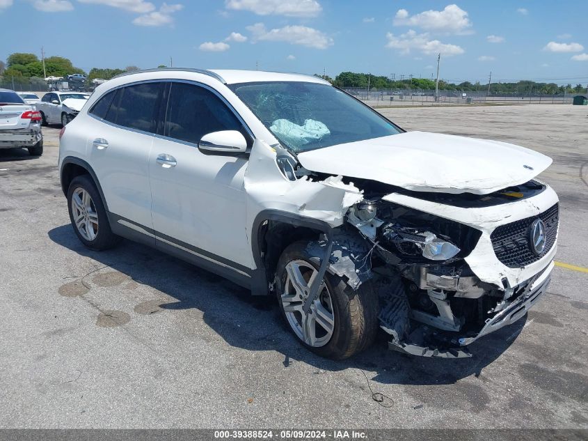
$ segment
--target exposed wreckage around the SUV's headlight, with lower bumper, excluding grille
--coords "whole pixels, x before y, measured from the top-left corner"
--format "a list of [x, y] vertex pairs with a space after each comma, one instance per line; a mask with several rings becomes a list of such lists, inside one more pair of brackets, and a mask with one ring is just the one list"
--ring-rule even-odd
[[465, 346], [524, 316], [550, 281], [553, 263], [516, 286], [482, 281], [466, 257], [483, 231], [413, 208], [365, 199], [347, 221], [372, 244], [372, 284], [390, 349], [470, 357]]

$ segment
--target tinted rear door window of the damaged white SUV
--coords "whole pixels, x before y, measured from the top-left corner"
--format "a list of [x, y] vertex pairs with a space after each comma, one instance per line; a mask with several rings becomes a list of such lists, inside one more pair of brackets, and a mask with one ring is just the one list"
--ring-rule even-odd
[[154, 133], [162, 89], [159, 82], [119, 88], [106, 112], [106, 121]]

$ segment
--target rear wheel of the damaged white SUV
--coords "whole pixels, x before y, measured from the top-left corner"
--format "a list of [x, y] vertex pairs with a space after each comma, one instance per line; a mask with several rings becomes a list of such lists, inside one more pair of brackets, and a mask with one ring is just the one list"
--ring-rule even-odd
[[67, 209], [74, 231], [86, 247], [100, 251], [116, 245], [118, 236], [110, 228], [102, 198], [90, 176], [72, 180], [67, 190]]

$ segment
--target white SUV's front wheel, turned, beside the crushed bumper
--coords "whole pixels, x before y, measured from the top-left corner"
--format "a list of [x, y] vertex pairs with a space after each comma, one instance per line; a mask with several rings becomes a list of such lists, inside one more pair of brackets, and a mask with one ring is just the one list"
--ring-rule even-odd
[[331, 359], [351, 357], [374, 341], [378, 296], [369, 283], [353, 291], [342, 277], [326, 273], [317, 299], [305, 313], [302, 306], [319, 271], [317, 256], [307, 248], [308, 241], [294, 242], [278, 261], [276, 295], [281, 315], [312, 352]]

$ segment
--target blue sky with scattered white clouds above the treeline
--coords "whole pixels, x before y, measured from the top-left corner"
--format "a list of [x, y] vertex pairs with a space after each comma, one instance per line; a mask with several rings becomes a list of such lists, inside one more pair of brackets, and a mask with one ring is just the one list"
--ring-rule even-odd
[[[0, 0], [0, 59], [588, 82], [588, 1]], [[13, 36], [13, 38], [6, 38]]]

